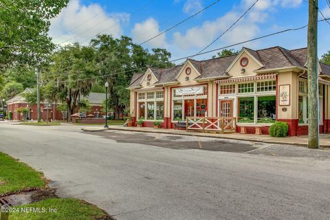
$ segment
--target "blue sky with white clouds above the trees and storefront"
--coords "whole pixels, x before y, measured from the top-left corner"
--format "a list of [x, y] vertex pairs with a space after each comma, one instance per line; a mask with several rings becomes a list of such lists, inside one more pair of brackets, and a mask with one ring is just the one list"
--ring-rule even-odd
[[[171, 25], [210, 5], [215, 0], [71, 0], [67, 8], [52, 20], [50, 35], [55, 43], [65, 45], [78, 41], [88, 44], [98, 33], [119, 37], [130, 36], [135, 43], [166, 30]], [[196, 54], [217, 38], [238, 19], [255, 0], [221, 0], [177, 28], [145, 43], [148, 48], [164, 47], [172, 58]], [[330, 17], [326, 0], [319, 1], [320, 10]], [[319, 16], [319, 19], [322, 17]], [[303, 0], [259, 0], [254, 8], [221, 39], [207, 50], [225, 47], [257, 36], [307, 24], [308, 3]], [[330, 50], [330, 25], [319, 23], [319, 56]], [[307, 45], [307, 28], [287, 32], [236, 47], [254, 50], [281, 45], [289, 50]], [[214, 52], [215, 53], [215, 52]], [[196, 56], [198, 60], [210, 58], [214, 53]]]

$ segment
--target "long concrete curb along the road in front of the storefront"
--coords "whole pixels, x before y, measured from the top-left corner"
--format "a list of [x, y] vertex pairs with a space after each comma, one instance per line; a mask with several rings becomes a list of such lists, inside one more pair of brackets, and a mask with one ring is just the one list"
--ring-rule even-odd
[[[308, 144], [298, 144], [298, 143], [294, 143], [294, 142], [274, 142], [274, 141], [267, 141], [267, 140], [250, 140], [250, 139], [245, 139], [245, 138], [239, 138], [239, 137], [217, 137], [217, 136], [208, 136], [208, 135], [203, 135], [202, 133], [170, 133], [170, 132], [166, 132], [166, 131], [142, 131], [142, 130], [128, 130], [128, 129], [120, 129], [120, 128], [109, 128], [108, 131], [111, 130], [116, 130], [116, 131], [135, 131], [135, 132], [141, 132], [141, 133], [164, 133], [164, 134], [168, 134], [168, 135], [184, 135], [184, 136], [195, 136], [195, 137], [213, 137], [213, 138], [218, 138], [218, 139], [228, 139], [228, 140], [241, 140], [241, 141], [247, 141], [247, 142], [260, 142], [260, 143], [267, 143], [267, 144], [287, 144], [287, 145], [294, 145], [294, 146], [303, 146], [303, 147], [307, 147]], [[321, 148], [325, 148], [325, 149], [330, 149], [330, 145], [321, 145]]]

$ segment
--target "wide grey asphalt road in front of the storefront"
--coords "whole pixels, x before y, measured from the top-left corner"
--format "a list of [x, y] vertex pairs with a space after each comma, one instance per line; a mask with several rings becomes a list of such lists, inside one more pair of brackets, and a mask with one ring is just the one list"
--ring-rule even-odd
[[0, 151], [115, 219], [330, 218], [329, 151], [7, 122]]

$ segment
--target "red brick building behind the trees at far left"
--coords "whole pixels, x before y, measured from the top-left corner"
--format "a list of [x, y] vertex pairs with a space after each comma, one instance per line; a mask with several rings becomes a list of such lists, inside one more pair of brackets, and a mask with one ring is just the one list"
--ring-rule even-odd
[[[14, 96], [10, 100], [7, 100], [7, 113], [8, 115], [12, 115], [12, 118], [10, 120], [23, 120], [23, 118], [27, 120], [37, 120], [37, 108], [36, 104], [33, 104], [32, 106], [25, 100], [24, 94], [31, 93], [33, 89], [26, 88], [21, 94], [18, 94], [17, 96]], [[89, 96], [83, 97], [82, 99], [87, 99], [91, 105], [92, 110], [91, 112], [88, 112], [87, 114], [93, 114], [94, 117], [98, 118], [101, 115], [101, 108], [102, 108], [102, 102], [105, 100], [105, 94], [100, 93], [90, 93]], [[67, 112], [61, 112], [57, 109], [56, 104], [50, 104], [47, 101], [40, 103], [41, 108], [41, 119], [43, 121], [48, 120], [67, 120]], [[20, 107], [28, 107], [30, 109], [30, 112], [23, 115], [23, 113], [18, 113], [17, 109]]]

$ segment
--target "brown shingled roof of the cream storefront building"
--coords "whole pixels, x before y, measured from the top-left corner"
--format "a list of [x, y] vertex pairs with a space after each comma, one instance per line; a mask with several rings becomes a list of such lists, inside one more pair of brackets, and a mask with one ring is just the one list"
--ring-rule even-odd
[[[283, 47], [270, 47], [262, 50], [252, 50], [250, 48], [243, 47], [238, 55], [225, 56], [221, 58], [212, 58], [206, 61], [195, 61], [187, 59], [186, 63], [190, 62], [191, 65], [201, 74], [196, 80], [208, 79], [208, 78], [223, 78], [230, 77], [228, 69], [239, 58], [240, 54], [247, 52], [259, 63], [262, 67], [257, 70], [267, 71], [267, 69], [282, 69], [285, 67], [300, 67], [305, 68], [307, 63], [307, 48], [300, 48], [296, 50], [287, 50]], [[185, 63], [185, 65], [186, 65]], [[152, 72], [157, 78], [158, 82], [155, 85], [163, 83], [175, 82], [175, 77], [179, 74], [184, 65], [177, 65], [175, 67], [168, 68], [152, 68]], [[321, 74], [330, 76], [330, 66], [325, 63], [320, 63]], [[138, 81], [143, 76], [142, 73], [134, 74], [129, 88], [140, 87]]]

